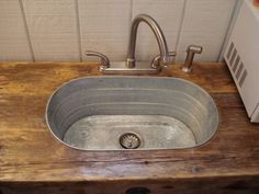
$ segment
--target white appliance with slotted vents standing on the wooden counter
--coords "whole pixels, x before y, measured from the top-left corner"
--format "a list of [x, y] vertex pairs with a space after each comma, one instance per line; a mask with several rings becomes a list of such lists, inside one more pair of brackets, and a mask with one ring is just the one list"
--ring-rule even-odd
[[224, 58], [251, 122], [259, 123], [259, 9], [244, 0]]

